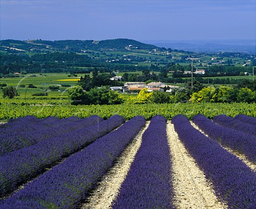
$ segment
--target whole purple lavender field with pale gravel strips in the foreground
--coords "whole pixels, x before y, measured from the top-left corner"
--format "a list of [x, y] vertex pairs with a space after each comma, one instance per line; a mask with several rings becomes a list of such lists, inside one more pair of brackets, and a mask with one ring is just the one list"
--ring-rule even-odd
[[25, 116], [0, 125], [0, 208], [256, 208], [256, 118]]

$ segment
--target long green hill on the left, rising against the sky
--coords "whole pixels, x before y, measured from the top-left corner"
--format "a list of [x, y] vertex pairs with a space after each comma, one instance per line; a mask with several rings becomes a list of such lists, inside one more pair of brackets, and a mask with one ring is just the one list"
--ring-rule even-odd
[[85, 52], [91, 51], [119, 51], [127, 52], [131, 50], [143, 49], [153, 51], [154, 49], [163, 51], [162, 48], [143, 44], [139, 41], [125, 38], [111, 40], [0, 40], [0, 50], [5, 52]]

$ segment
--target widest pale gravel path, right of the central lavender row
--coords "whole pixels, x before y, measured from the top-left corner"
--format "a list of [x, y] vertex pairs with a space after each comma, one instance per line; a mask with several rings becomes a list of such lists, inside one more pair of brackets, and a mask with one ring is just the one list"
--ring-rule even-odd
[[214, 195], [211, 184], [179, 140], [171, 121], [167, 122], [167, 137], [172, 155], [174, 204], [177, 208], [227, 208]]

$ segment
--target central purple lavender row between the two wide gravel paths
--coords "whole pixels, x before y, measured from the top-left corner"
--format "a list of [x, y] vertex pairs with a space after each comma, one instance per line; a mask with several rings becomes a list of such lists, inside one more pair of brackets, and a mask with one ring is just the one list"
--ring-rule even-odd
[[170, 159], [166, 119], [156, 115], [143, 133], [141, 146], [113, 208], [173, 208]]

